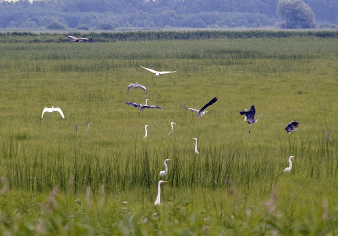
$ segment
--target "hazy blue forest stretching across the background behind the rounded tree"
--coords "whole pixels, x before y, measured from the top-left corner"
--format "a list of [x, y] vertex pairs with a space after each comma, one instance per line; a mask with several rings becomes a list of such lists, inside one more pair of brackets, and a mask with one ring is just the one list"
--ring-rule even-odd
[[[280, 0], [286, 5], [290, 2]], [[296, 11], [277, 14], [276, 0], [59, 0], [0, 2], [0, 29], [81, 29], [114, 30], [120, 28], [159, 29], [168, 27], [232, 28], [273, 27], [289, 28], [279, 24], [304, 18], [303, 7]], [[338, 24], [338, 1], [297, 0], [298, 6], [308, 6], [316, 17], [315, 25], [297, 25], [313, 28]], [[291, 4], [292, 5], [292, 4]], [[292, 8], [291, 8], [292, 9]], [[293, 8], [295, 9], [295, 8]], [[294, 17], [297, 15], [297, 17]], [[305, 17], [306, 18], [306, 17]], [[314, 20], [314, 18], [313, 18]], [[295, 28], [291, 25], [290, 28]]]

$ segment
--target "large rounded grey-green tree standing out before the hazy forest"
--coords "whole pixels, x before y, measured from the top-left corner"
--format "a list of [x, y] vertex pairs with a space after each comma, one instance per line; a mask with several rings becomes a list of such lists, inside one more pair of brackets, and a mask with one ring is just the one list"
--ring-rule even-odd
[[279, 0], [277, 14], [284, 18], [280, 25], [286, 29], [307, 29], [315, 26], [315, 15], [302, 0]]

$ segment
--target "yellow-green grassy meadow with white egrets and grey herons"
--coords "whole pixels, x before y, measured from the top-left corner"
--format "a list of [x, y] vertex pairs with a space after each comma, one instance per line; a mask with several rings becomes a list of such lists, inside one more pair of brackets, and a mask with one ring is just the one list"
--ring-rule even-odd
[[[336, 38], [0, 43], [0, 52], [0, 235], [338, 234]], [[163, 109], [125, 105], [145, 102], [141, 89], [127, 94], [135, 82]], [[201, 118], [180, 106], [214, 97]], [[263, 115], [248, 133], [239, 111], [252, 104]], [[41, 119], [51, 106], [65, 119]], [[291, 120], [301, 124], [287, 134]], [[165, 158], [170, 182], [154, 206]]]

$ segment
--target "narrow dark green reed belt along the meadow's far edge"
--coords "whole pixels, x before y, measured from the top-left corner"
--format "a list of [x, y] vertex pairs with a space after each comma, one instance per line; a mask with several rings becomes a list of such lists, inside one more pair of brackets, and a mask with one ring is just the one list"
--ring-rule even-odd
[[218, 38], [289, 38], [289, 37], [320, 37], [336, 38], [337, 30], [245, 30], [245, 31], [132, 31], [132, 32], [69, 32], [69, 33], [32, 33], [7, 32], [0, 33], [0, 42], [70, 42], [66, 35], [87, 37], [95, 42], [136, 41], [136, 40], [192, 40]]

